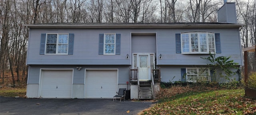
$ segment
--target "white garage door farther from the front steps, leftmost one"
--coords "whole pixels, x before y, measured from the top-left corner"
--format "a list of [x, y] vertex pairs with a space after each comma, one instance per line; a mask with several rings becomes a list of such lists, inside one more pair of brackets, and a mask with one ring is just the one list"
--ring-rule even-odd
[[72, 70], [42, 70], [42, 98], [71, 98]]

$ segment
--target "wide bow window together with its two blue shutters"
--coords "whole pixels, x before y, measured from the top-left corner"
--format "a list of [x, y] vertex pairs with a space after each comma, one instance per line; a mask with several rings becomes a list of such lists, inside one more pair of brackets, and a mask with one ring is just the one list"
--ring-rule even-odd
[[220, 34], [213, 32], [182, 32], [176, 34], [177, 54], [221, 53]]

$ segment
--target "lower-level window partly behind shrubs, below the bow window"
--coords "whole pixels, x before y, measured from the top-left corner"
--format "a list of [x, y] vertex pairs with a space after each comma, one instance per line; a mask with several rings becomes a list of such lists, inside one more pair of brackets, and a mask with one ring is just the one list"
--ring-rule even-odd
[[208, 68], [186, 68], [186, 71], [188, 82], [210, 81], [210, 69]]

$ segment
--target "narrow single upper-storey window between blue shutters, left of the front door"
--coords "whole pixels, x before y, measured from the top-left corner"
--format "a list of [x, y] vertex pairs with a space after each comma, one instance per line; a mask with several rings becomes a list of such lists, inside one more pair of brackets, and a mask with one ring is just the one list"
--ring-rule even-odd
[[104, 34], [104, 55], [115, 55], [116, 34]]

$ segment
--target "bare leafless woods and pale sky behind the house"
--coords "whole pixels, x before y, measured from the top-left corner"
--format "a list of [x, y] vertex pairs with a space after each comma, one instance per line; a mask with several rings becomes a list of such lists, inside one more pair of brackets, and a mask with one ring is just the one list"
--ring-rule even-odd
[[[227, 2], [236, 2], [238, 23], [246, 24], [240, 29], [242, 48], [254, 46], [256, 0]], [[0, 81], [26, 84], [29, 28], [24, 24], [217, 22], [223, 4], [223, 0], [0, 0]], [[255, 56], [249, 59], [255, 63]]]

